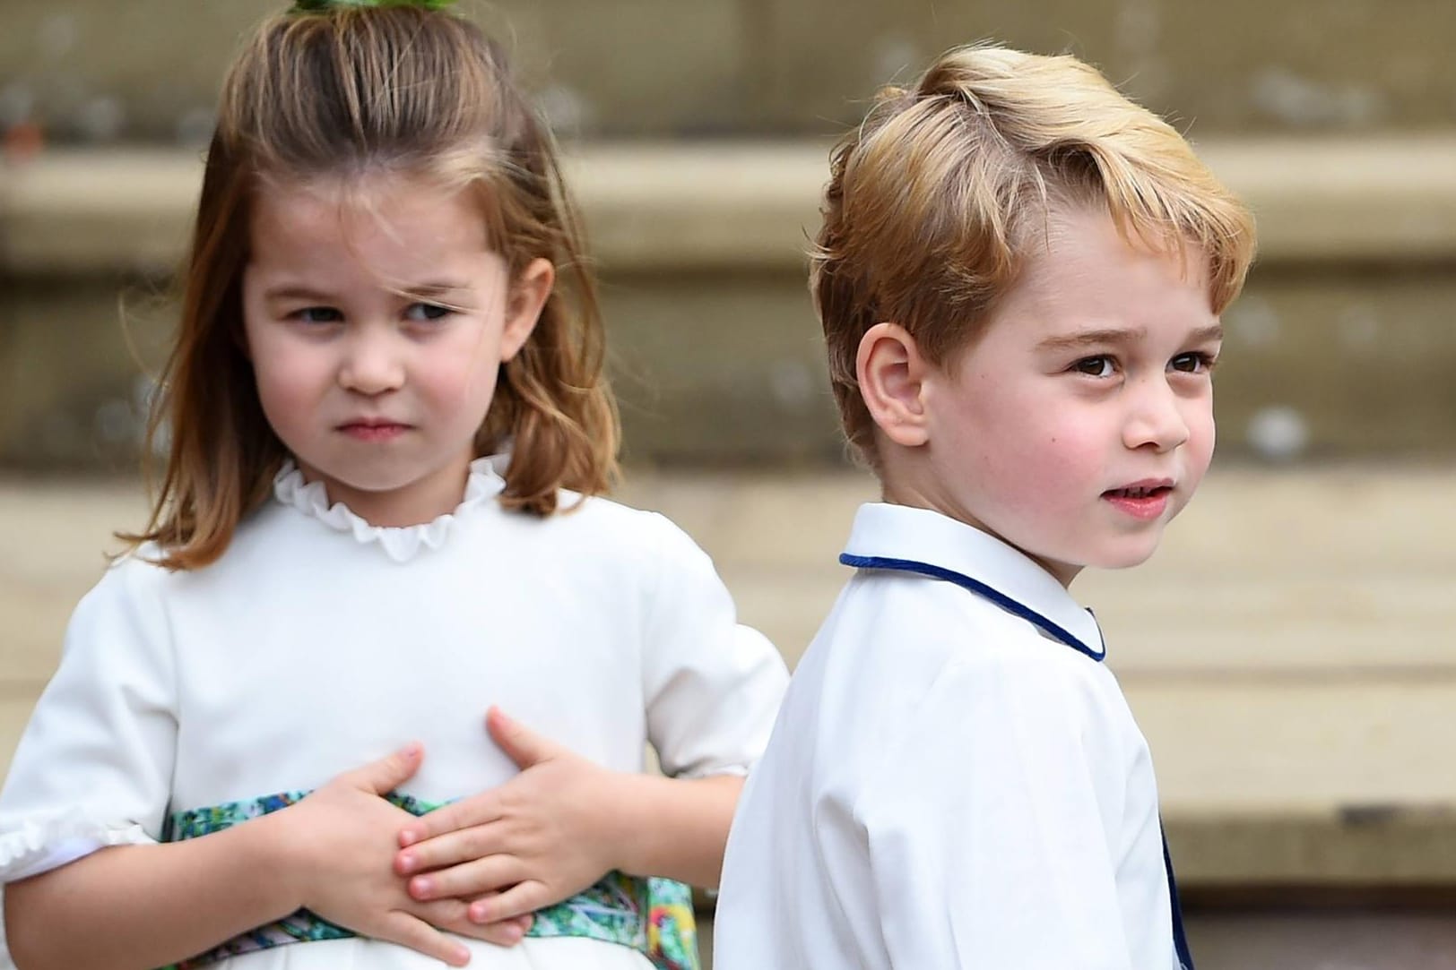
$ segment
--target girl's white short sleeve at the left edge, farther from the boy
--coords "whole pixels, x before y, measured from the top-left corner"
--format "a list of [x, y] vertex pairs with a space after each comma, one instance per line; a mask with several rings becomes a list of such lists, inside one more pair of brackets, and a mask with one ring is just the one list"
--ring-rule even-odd
[[71, 615], [0, 791], [0, 883], [160, 838], [178, 723], [163, 579], [124, 560]]

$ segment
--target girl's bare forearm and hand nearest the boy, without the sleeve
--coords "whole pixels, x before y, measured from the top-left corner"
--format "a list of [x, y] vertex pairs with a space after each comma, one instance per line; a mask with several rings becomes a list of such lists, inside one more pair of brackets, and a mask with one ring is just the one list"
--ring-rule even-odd
[[521, 774], [409, 822], [396, 871], [419, 900], [480, 897], [495, 922], [578, 893], [606, 873], [716, 886], [743, 778], [610, 771], [492, 708], [486, 729]]

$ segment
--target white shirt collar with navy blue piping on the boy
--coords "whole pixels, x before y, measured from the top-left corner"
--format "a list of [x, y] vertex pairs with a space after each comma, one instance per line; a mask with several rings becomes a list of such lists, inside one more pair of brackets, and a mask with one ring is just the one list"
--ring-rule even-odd
[[[1050, 621], [1077, 641], [1067, 646], [1095, 660], [1107, 650], [1092, 612], [1079, 606], [1051, 573], [1012, 545], [939, 512], [881, 502], [862, 505], [840, 561], [938, 576], [1066, 641], [1034, 617]], [[897, 566], [881, 564], [888, 561]]]

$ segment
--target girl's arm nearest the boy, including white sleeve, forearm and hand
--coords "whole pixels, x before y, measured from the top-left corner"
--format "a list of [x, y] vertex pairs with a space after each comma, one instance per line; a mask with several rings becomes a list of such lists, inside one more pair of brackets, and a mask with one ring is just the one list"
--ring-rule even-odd
[[[737, 622], [712, 561], [654, 513], [630, 519], [644, 554], [646, 736], [673, 778], [610, 772], [494, 713], [521, 766], [508, 784], [411, 823], [396, 870], [416, 899], [475, 896], [475, 921], [559, 902], [613, 868], [715, 886], [741, 775], [763, 753], [788, 672]], [[428, 841], [428, 842], [427, 842]]]

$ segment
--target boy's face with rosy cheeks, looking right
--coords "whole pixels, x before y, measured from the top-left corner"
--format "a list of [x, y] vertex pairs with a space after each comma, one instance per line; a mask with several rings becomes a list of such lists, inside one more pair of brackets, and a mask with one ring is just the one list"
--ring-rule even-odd
[[930, 368], [923, 497], [1063, 583], [1152, 556], [1213, 457], [1222, 332], [1187, 257], [1128, 246], [1105, 212], [1054, 215], [978, 340]]

